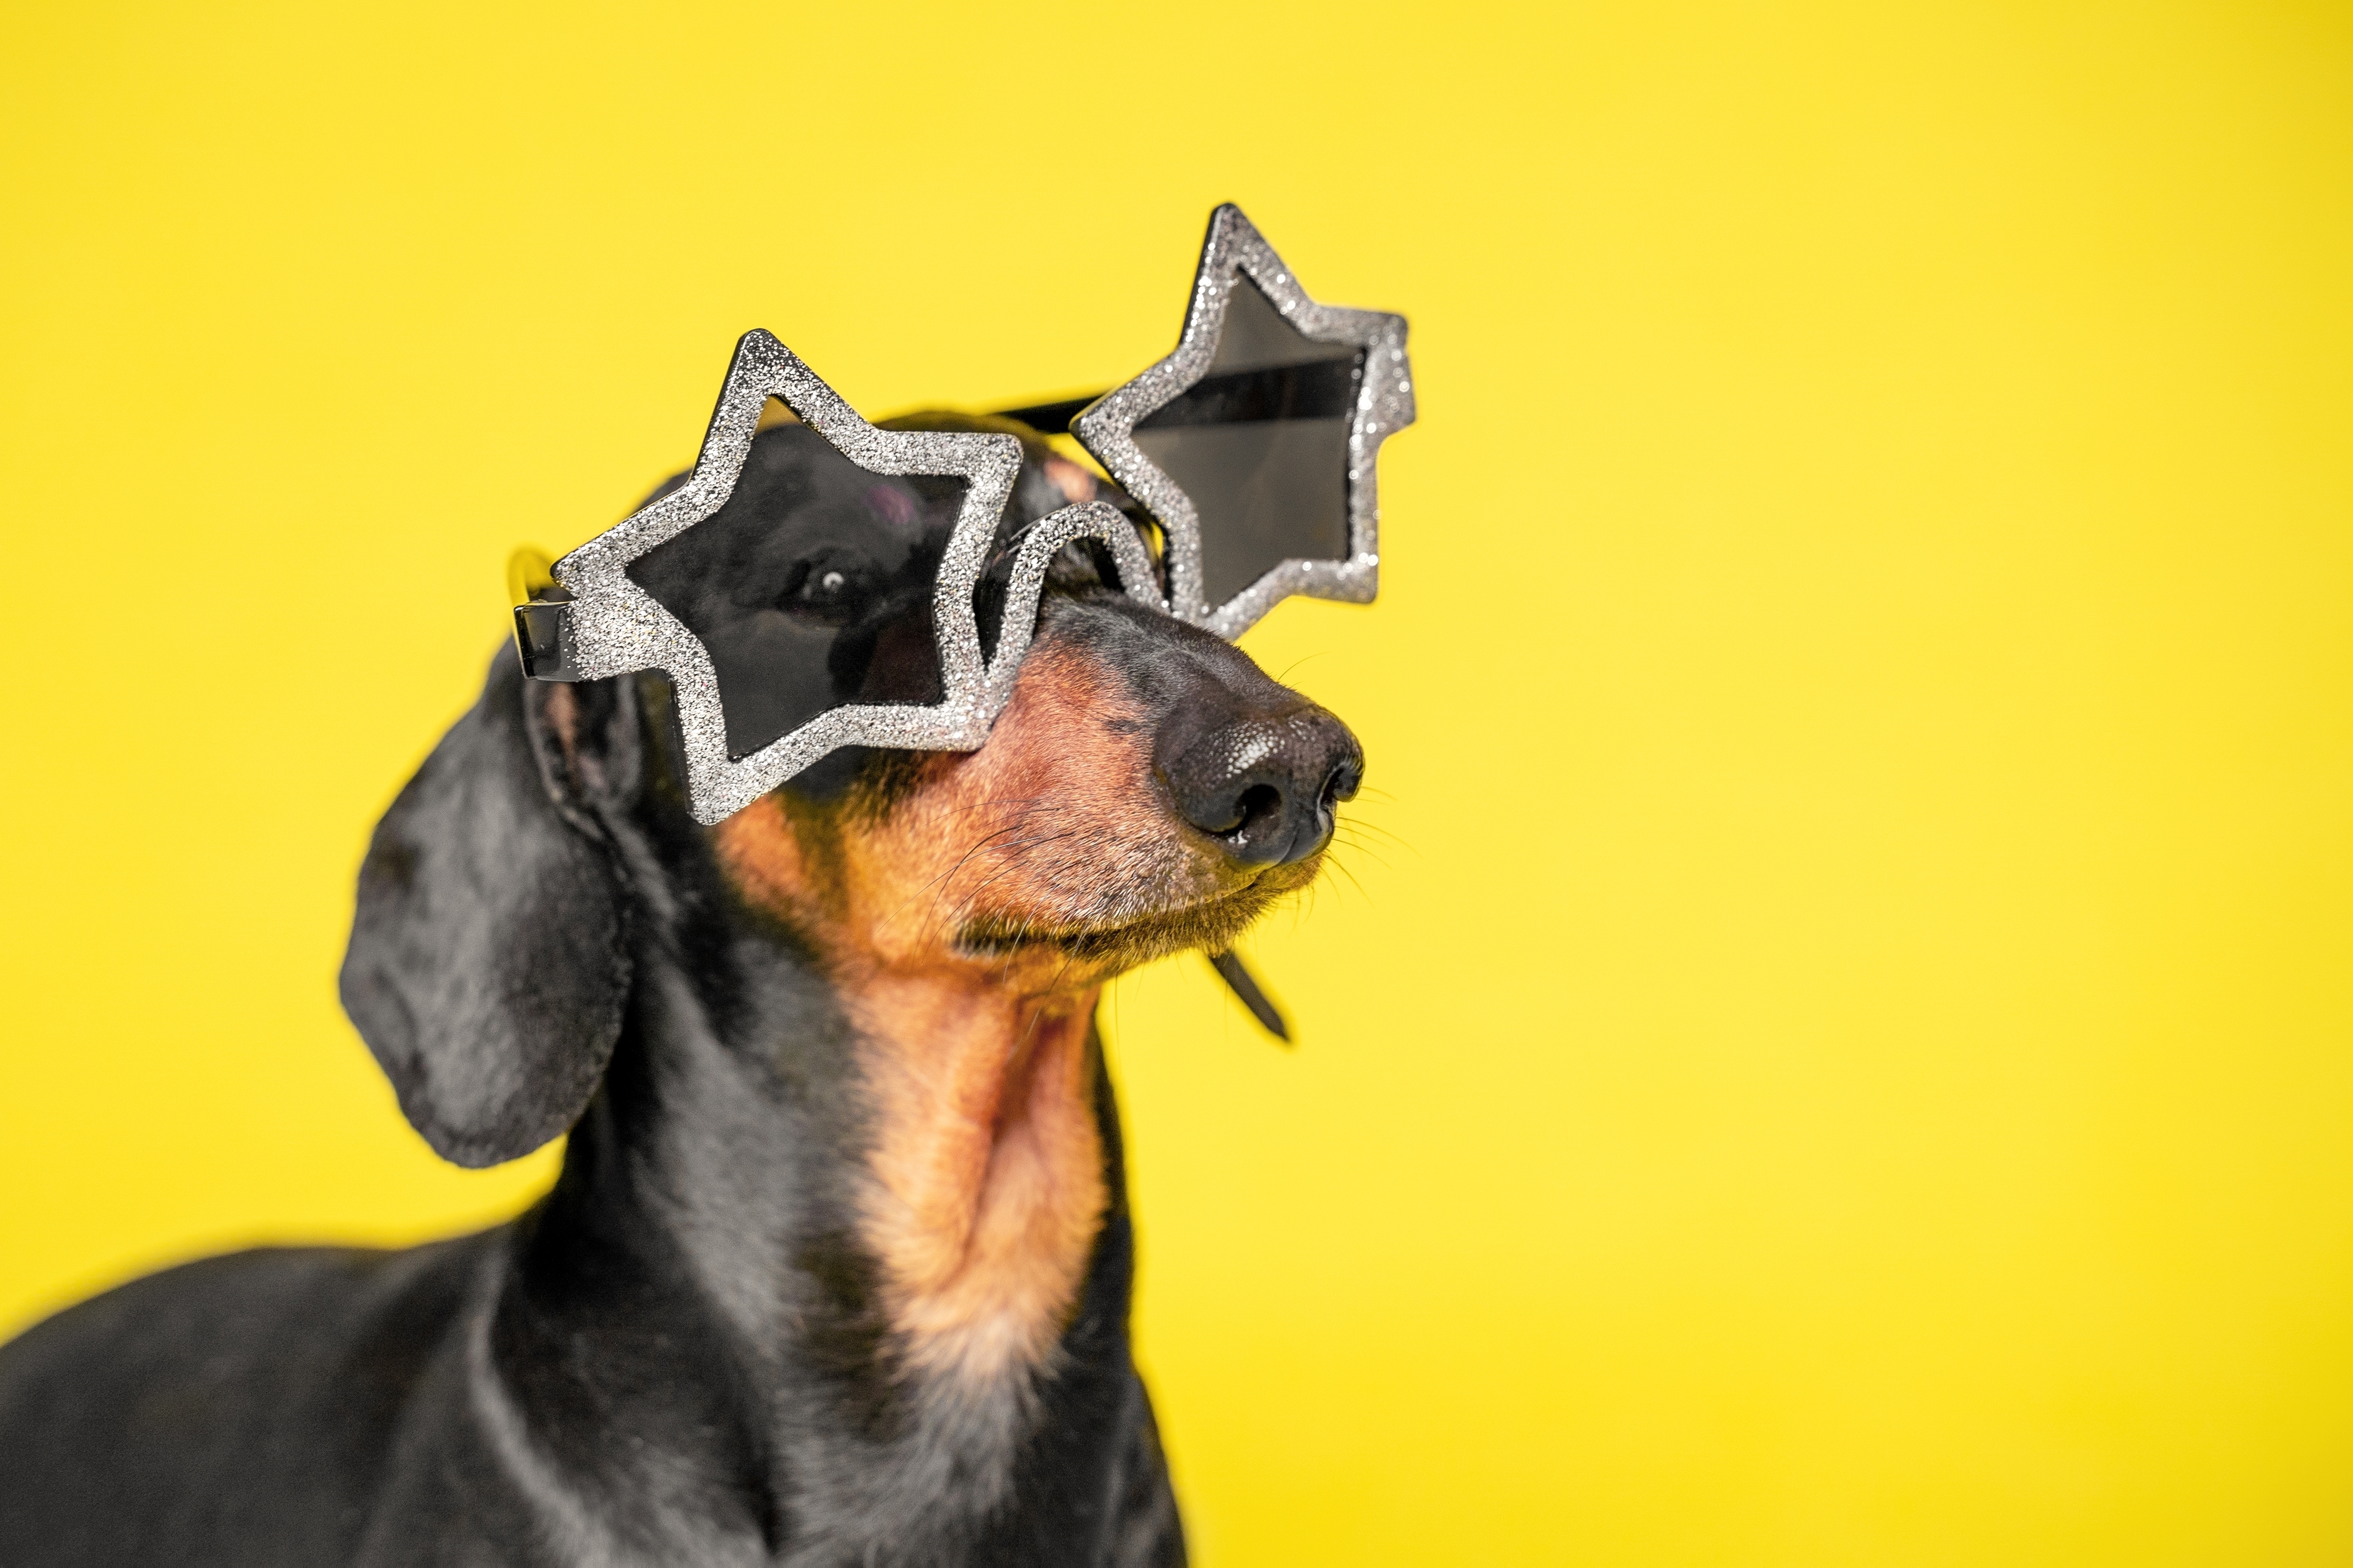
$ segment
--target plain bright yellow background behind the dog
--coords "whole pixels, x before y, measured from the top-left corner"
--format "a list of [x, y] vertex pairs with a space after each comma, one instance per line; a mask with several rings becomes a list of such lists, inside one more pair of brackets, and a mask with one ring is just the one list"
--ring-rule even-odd
[[2339, 7], [14, 5], [0, 1321], [515, 1208], [334, 1003], [508, 546], [765, 325], [1414, 323], [1381, 829], [1115, 996], [1200, 1561], [2353, 1559]]

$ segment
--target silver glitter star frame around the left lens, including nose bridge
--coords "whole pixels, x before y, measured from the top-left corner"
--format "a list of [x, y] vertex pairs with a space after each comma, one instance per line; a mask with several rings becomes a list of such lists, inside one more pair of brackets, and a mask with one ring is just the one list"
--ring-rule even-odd
[[[965, 480], [965, 501], [955, 513], [932, 593], [941, 702], [929, 706], [845, 704], [819, 713], [751, 756], [732, 758], [718, 673], [708, 650], [652, 593], [631, 582], [626, 567], [727, 504], [760, 428], [760, 410], [769, 398], [779, 398], [842, 457], [868, 473], [960, 478]], [[551, 567], [555, 584], [572, 596], [569, 603], [551, 605], [558, 622], [562, 678], [600, 680], [635, 671], [661, 671], [671, 678], [687, 753], [687, 805], [704, 824], [732, 817], [840, 746], [974, 751], [988, 739], [988, 727], [1012, 697], [1014, 673], [1035, 633], [1045, 572], [1056, 551], [1075, 539], [1101, 539], [1113, 553], [1120, 586], [1155, 610], [1167, 607], [1160, 600], [1144, 542], [1118, 509], [1101, 501], [1064, 506], [1024, 530], [1005, 596], [998, 650], [993, 659], [984, 659], [972, 596], [1019, 473], [1021, 443], [1014, 436], [875, 428], [772, 334], [746, 332], [727, 367], [727, 384], [720, 388], [711, 431], [704, 436], [687, 483]]]

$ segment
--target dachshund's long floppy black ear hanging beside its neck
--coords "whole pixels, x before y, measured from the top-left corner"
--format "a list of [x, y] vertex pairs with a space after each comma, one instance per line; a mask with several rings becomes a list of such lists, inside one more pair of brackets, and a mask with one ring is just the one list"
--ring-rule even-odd
[[447, 1161], [529, 1154], [605, 1076], [628, 930], [598, 805], [635, 786], [638, 751], [631, 680], [525, 680], [506, 647], [376, 824], [344, 1010]]

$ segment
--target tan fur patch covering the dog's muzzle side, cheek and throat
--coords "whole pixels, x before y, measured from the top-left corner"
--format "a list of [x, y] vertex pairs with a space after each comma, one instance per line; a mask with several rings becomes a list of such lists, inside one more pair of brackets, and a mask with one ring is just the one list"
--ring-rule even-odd
[[887, 810], [767, 796], [713, 829], [739, 892], [824, 958], [873, 1097], [866, 1243], [906, 1358], [1035, 1366], [1108, 1194], [1089, 1097], [1101, 984], [1231, 939], [1315, 864], [1249, 876], [1158, 803], [1115, 678], [1042, 638], [988, 744]]

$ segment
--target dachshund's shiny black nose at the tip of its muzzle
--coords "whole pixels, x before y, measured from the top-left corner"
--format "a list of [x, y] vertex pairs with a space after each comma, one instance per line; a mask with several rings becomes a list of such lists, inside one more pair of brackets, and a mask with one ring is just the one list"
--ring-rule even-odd
[[1176, 812], [1245, 866], [1306, 859], [1332, 808], [1365, 782], [1365, 751], [1318, 706], [1209, 730], [1165, 768]]

